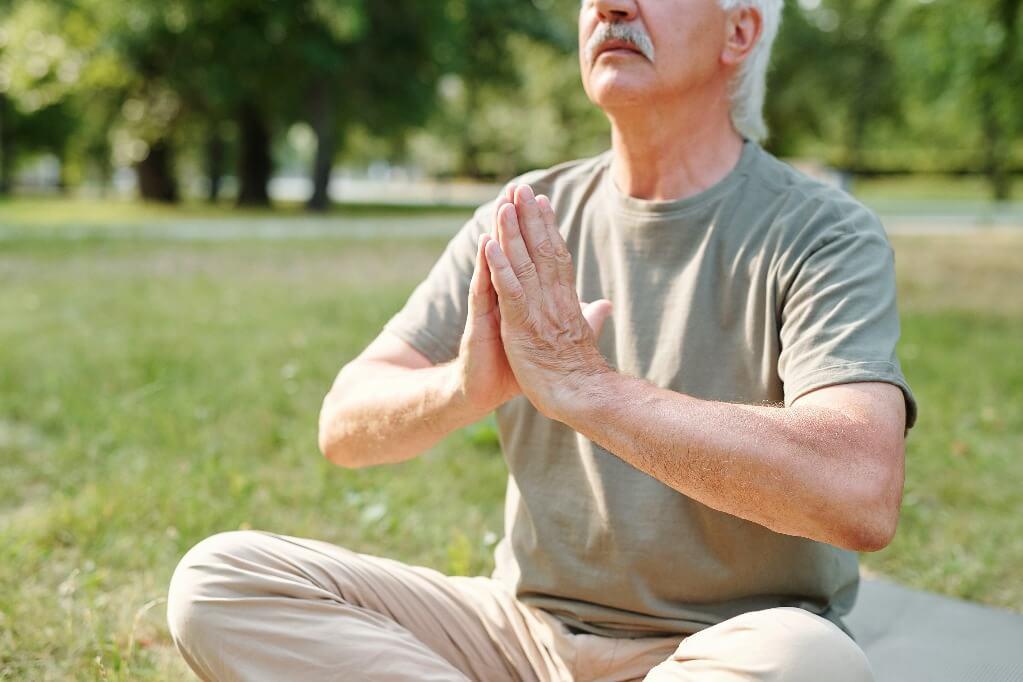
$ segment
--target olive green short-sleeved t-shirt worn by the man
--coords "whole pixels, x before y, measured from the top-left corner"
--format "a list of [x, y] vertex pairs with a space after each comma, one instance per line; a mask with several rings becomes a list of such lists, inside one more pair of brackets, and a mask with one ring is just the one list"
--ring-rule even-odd
[[[877, 217], [746, 141], [737, 167], [684, 199], [621, 192], [611, 151], [516, 179], [550, 196], [584, 302], [610, 299], [598, 338], [618, 371], [696, 398], [785, 404], [887, 381], [895, 356], [892, 249]], [[435, 363], [465, 324], [481, 207], [386, 325]], [[525, 397], [497, 410], [509, 476], [493, 577], [520, 599], [608, 636], [692, 633], [799, 606], [843, 629], [857, 556], [707, 507], [633, 468]], [[665, 453], [677, 457], [684, 448]]]

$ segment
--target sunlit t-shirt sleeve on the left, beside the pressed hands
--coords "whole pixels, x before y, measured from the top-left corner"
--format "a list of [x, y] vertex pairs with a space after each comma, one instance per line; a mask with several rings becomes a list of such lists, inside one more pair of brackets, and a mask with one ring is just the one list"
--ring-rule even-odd
[[434, 364], [453, 360], [469, 314], [469, 282], [476, 267], [480, 235], [496, 201], [480, 207], [451, 238], [430, 273], [384, 328], [405, 340]]

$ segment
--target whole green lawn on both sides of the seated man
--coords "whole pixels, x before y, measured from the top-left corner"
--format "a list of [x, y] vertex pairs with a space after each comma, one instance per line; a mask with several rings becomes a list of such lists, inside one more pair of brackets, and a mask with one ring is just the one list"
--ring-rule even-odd
[[[491, 421], [392, 467], [316, 448], [335, 373], [443, 243], [0, 241], [0, 679], [188, 679], [163, 598], [217, 531], [489, 572]], [[898, 535], [864, 567], [1023, 610], [1023, 234], [894, 244], [921, 416]]]

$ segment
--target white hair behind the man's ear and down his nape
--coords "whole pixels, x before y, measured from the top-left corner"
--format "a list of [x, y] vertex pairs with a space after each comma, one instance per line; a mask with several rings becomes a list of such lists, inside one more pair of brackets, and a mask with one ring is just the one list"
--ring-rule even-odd
[[784, 0], [718, 0], [721, 9], [730, 11], [753, 7], [760, 12], [763, 28], [760, 39], [731, 82], [731, 124], [740, 134], [762, 141], [767, 137], [764, 123], [764, 98], [767, 94], [767, 64], [770, 49], [782, 24]]

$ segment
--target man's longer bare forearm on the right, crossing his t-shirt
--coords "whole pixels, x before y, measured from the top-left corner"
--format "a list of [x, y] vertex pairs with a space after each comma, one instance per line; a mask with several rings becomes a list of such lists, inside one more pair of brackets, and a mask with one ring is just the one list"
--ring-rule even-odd
[[559, 419], [714, 509], [860, 551], [894, 534], [898, 500], [884, 491], [895, 486], [881, 480], [891, 473], [838, 410], [698, 400], [614, 371], [571, 405]]

